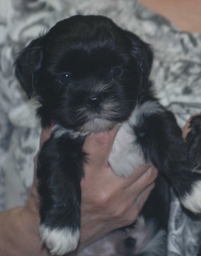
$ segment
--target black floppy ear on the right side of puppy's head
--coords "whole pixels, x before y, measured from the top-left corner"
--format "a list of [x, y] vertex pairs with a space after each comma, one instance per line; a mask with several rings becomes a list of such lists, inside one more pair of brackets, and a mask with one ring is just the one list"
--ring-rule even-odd
[[126, 36], [132, 43], [132, 56], [138, 64], [138, 75], [141, 85], [146, 85], [151, 72], [153, 52], [148, 43], [143, 42], [138, 36], [126, 31]]

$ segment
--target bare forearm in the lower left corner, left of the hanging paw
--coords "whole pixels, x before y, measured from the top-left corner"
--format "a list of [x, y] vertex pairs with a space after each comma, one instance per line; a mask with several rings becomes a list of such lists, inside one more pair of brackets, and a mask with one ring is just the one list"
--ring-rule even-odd
[[36, 221], [24, 207], [0, 213], [0, 255], [47, 256], [40, 246]]

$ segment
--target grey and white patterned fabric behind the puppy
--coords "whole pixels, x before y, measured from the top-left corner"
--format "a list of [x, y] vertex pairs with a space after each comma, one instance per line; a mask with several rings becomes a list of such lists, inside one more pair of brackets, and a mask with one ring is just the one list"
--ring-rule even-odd
[[[0, 0], [0, 209], [23, 205], [33, 179], [40, 126], [34, 104], [14, 77], [18, 51], [56, 21], [101, 14], [131, 30], [155, 52], [152, 80], [161, 103], [181, 127], [201, 110], [201, 35], [180, 32], [136, 0]], [[172, 192], [168, 256], [197, 255], [201, 221], [188, 216]]]

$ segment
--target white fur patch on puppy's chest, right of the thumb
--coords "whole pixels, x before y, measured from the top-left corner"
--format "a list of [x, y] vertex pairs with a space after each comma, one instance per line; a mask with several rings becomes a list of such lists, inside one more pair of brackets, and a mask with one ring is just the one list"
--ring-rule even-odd
[[121, 177], [129, 177], [136, 168], [145, 164], [133, 127], [127, 121], [122, 124], [116, 135], [109, 164], [114, 173]]

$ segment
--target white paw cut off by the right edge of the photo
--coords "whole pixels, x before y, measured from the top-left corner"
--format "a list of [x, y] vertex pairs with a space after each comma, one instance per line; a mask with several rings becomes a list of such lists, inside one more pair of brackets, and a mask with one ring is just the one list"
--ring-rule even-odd
[[192, 192], [181, 198], [181, 204], [193, 213], [201, 213], [201, 182], [193, 185]]

